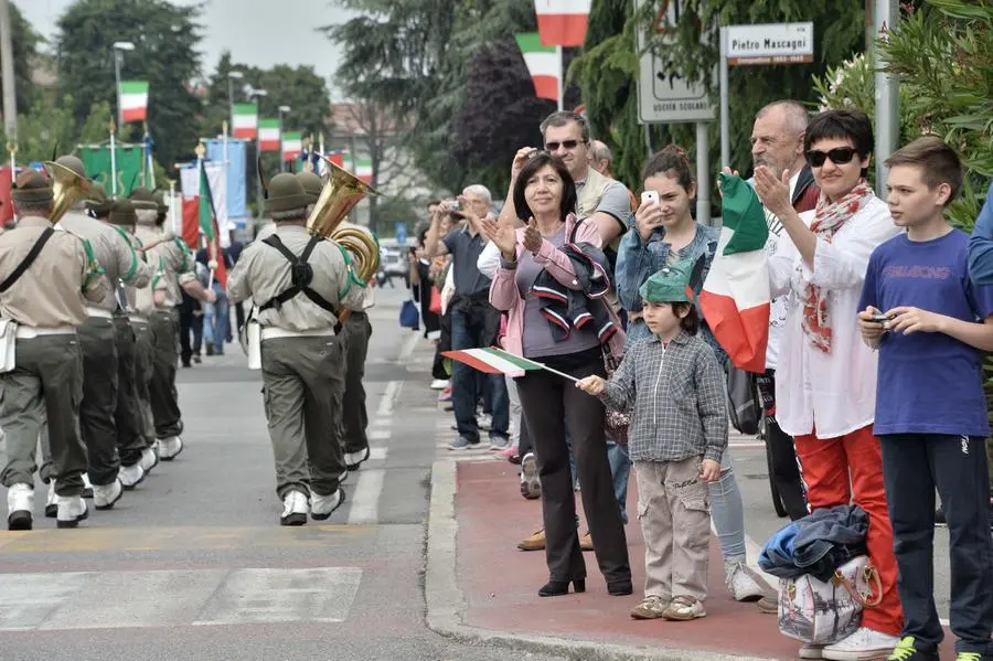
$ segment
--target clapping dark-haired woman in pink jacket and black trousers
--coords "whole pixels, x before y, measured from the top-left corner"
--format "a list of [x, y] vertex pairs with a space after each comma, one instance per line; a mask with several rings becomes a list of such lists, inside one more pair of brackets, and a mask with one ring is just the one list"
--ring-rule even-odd
[[[522, 150], [514, 160], [511, 185], [512, 209], [525, 226], [515, 228], [510, 217], [483, 223], [484, 234], [500, 248], [500, 268], [490, 287], [490, 302], [509, 313], [504, 347], [511, 353], [535, 359], [577, 379], [604, 376], [601, 343], [620, 356], [624, 333], [609, 305], [583, 296], [576, 266], [563, 250], [566, 244], [600, 248], [597, 225], [573, 213], [576, 184], [558, 157]], [[558, 323], [552, 319], [554, 309], [543, 302], [549, 291], [569, 301], [569, 310], [557, 317]], [[577, 327], [570, 321], [579, 318], [574, 314], [577, 305], [598, 321]], [[565, 329], [563, 319], [567, 322]], [[566, 430], [573, 441], [576, 477], [583, 484], [583, 509], [607, 589], [616, 596], [630, 595], [628, 544], [607, 461], [604, 405], [569, 381], [544, 370], [527, 372], [516, 380], [516, 386], [542, 483], [549, 580], [538, 595], [565, 595], [569, 583], [576, 593], [586, 589]]]

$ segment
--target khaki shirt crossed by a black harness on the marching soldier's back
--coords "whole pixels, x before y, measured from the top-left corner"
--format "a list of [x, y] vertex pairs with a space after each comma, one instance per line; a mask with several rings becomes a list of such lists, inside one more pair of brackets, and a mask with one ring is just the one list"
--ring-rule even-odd
[[[287, 249], [298, 256], [303, 253], [311, 236], [306, 227], [299, 225], [277, 227], [276, 234]], [[362, 310], [363, 290], [355, 285], [349, 286], [349, 274], [338, 244], [330, 241], [318, 242], [308, 264], [313, 268], [313, 279], [309, 285], [311, 289], [332, 306]], [[227, 297], [233, 303], [250, 298], [256, 306], [261, 307], [291, 286], [290, 263], [282, 253], [267, 244], [255, 242], [245, 248], [228, 274]], [[282, 303], [279, 309], [274, 307], [259, 312], [258, 321], [263, 328], [310, 331], [333, 328], [338, 318], [301, 292]]]

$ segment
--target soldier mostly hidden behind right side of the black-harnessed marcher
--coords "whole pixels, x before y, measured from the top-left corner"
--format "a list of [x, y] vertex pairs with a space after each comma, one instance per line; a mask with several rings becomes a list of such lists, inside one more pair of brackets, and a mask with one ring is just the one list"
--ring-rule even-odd
[[[297, 178], [303, 185], [303, 192], [316, 204], [321, 195], [323, 182], [313, 172], [298, 172]], [[343, 221], [339, 227], [356, 228], [370, 236], [372, 233], [362, 225]], [[352, 255], [352, 262], [357, 258]], [[369, 413], [365, 408], [365, 356], [369, 353], [369, 339], [372, 337], [372, 324], [365, 310], [375, 305], [372, 284], [366, 285], [362, 295], [360, 309], [353, 310], [342, 322], [342, 341], [345, 352], [345, 386], [342, 394], [341, 440], [344, 448], [344, 462], [348, 470], [359, 470], [363, 461], [369, 459]]]

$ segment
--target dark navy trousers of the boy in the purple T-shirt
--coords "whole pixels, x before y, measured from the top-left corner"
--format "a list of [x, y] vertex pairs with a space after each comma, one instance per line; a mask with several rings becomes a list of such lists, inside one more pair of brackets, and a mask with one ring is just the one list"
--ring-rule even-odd
[[993, 653], [993, 540], [985, 439], [900, 434], [882, 436], [883, 478], [899, 567], [904, 630], [922, 651], [944, 633], [935, 608], [935, 489], [948, 518], [951, 630], [957, 652]]

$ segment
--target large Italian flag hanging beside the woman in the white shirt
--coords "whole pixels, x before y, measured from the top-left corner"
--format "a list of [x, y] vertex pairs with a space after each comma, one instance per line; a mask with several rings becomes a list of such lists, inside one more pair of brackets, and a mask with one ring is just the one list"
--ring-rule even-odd
[[720, 174], [720, 190], [724, 226], [700, 307], [735, 366], [760, 373], [769, 340], [769, 227], [762, 203], [740, 177]]

